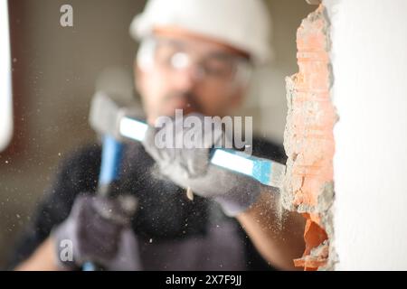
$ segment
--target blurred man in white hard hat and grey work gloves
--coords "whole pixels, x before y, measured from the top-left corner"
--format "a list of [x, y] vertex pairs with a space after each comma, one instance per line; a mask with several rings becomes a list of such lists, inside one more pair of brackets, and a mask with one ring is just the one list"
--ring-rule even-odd
[[[136, 86], [151, 126], [175, 109], [185, 116], [231, 115], [251, 70], [270, 59], [270, 15], [260, 0], [150, 0], [130, 32], [140, 42]], [[94, 193], [98, 145], [62, 163], [11, 266], [77, 270], [92, 261], [107, 270], [293, 269], [304, 249], [304, 221], [291, 212], [280, 218], [276, 191], [209, 169], [209, 150], [172, 154], [149, 135], [125, 149], [123, 198]], [[252, 154], [285, 163], [281, 147], [260, 138], [253, 139]], [[128, 209], [135, 203], [136, 210]]]

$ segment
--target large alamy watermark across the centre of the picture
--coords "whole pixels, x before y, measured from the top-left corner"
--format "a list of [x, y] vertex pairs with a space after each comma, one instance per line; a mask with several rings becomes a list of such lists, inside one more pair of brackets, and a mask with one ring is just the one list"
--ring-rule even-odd
[[176, 109], [175, 117], [157, 118], [160, 129], [154, 141], [160, 149], [233, 148], [251, 154], [252, 124], [252, 117], [243, 121], [243, 117], [184, 116], [182, 109]]

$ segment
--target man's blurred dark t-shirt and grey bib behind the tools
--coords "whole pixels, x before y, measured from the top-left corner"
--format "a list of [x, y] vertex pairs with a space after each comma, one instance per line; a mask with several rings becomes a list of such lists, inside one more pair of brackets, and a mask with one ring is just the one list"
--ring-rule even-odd
[[[279, 145], [253, 139], [253, 154], [284, 163]], [[81, 148], [61, 165], [32, 222], [10, 258], [11, 269], [30, 256], [54, 226], [69, 216], [75, 197], [95, 193], [101, 150]], [[160, 176], [141, 144], [128, 144], [118, 191], [135, 195], [138, 209], [132, 228], [145, 270], [268, 270], [250, 238], [235, 219], [211, 200], [194, 196]]]

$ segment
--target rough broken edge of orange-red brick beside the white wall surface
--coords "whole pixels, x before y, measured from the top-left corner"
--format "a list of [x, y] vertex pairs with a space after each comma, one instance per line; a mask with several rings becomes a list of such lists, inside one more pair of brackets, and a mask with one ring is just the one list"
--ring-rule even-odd
[[306, 250], [296, 266], [315, 270], [327, 265], [329, 239], [320, 196], [333, 186], [336, 109], [329, 89], [328, 22], [324, 7], [303, 20], [297, 33], [298, 73], [287, 78], [289, 115], [284, 145], [289, 156], [283, 205], [304, 213]]

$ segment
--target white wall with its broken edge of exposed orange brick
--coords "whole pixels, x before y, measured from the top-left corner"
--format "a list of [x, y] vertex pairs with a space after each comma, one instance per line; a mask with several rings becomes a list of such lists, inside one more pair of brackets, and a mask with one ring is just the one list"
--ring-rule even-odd
[[297, 266], [407, 269], [406, 15], [403, 0], [325, 0], [298, 28], [283, 191], [308, 219]]

